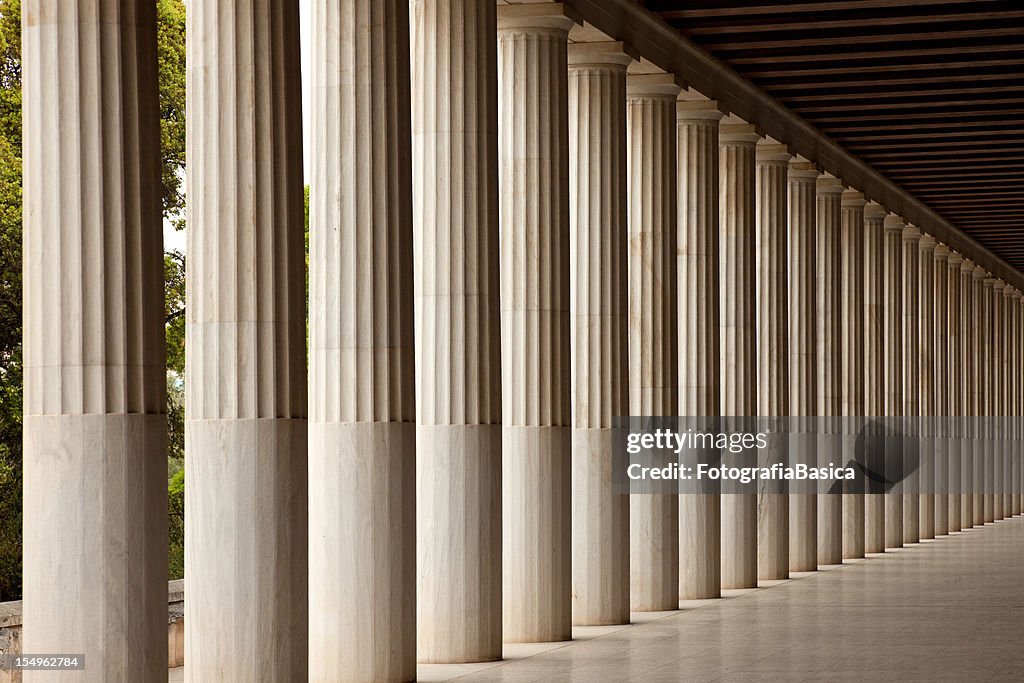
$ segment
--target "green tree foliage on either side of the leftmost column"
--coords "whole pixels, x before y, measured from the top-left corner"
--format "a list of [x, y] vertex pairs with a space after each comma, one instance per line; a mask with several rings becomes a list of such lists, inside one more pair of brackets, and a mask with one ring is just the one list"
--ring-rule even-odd
[[[161, 148], [164, 218], [184, 227], [185, 11], [182, 0], [156, 0], [159, 22]], [[184, 257], [167, 266], [168, 492], [173, 524], [182, 518]], [[176, 529], [181, 529], [178, 523]], [[172, 530], [172, 542], [174, 540]], [[180, 575], [181, 539], [171, 548], [172, 577]], [[177, 558], [177, 572], [174, 562]], [[0, 0], [0, 600], [22, 594], [22, 2]]]

